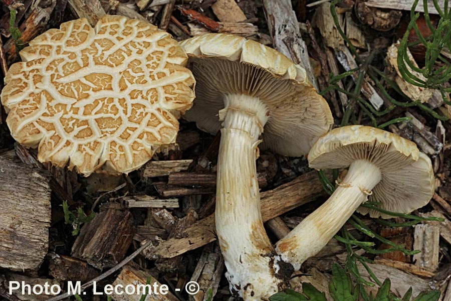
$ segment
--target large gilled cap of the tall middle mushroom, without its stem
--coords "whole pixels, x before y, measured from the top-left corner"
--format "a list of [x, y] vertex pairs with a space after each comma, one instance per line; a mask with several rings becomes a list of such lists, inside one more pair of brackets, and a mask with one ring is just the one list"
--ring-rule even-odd
[[183, 117], [211, 134], [221, 129], [224, 95], [260, 98], [269, 109], [262, 148], [306, 155], [333, 123], [327, 102], [304, 68], [278, 51], [243, 37], [206, 34], [182, 41], [196, 78], [196, 99]]

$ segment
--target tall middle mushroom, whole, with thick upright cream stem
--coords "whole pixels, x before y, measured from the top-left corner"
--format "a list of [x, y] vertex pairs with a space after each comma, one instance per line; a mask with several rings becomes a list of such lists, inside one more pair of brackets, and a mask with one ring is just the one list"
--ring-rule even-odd
[[[302, 156], [333, 123], [305, 70], [274, 49], [243, 37], [207, 34], [181, 42], [196, 78], [184, 115], [211, 134], [221, 131], [216, 232], [232, 291], [268, 298], [293, 271], [275, 254], [263, 226], [256, 157], [262, 147]], [[222, 122], [222, 125], [221, 125]]]

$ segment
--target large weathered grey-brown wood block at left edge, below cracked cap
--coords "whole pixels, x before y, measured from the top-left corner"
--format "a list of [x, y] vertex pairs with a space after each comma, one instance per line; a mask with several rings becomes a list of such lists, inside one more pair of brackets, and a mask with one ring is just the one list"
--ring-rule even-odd
[[50, 173], [0, 156], [0, 267], [36, 270], [49, 247]]

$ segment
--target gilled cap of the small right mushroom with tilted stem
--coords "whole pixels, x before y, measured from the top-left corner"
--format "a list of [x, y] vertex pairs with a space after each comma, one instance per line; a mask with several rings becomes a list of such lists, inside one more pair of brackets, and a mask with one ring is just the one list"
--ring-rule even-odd
[[[381, 181], [369, 196], [384, 210], [410, 213], [426, 205], [434, 193], [434, 173], [429, 157], [416, 144], [371, 126], [338, 127], [319, 138], [308, 155], [311, 168], [345, 168], [355, 160], [368, 160], [381, 172]], [[359, 207], [359, 213], [391, 218]]]

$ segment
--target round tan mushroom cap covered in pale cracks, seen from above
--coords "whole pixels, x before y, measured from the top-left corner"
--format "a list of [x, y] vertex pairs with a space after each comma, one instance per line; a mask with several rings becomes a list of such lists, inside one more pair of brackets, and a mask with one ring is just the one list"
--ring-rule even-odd
[[30, 42], [2, 91], [8, 126], [41, 162], [88, 176], [128, 173], [175, 141], [192, 105], [187, 56], [157, 27], [104, 16], [63, 23]]

